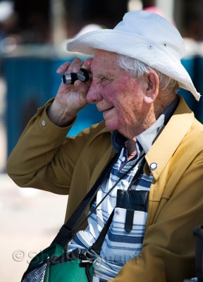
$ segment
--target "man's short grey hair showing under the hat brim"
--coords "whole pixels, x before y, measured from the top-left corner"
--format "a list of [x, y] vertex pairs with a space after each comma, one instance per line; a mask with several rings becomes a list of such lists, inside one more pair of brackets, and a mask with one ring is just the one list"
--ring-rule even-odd
[[155, 71], [159, 76], [161, 90], [168, 89], [168, 91], [175, 93], [179, 90], [178, 81], [169, 78], [167, 75], [164, 75], [164, 73], [156, 71], [156, 69], [151, 68], [146, 63], [142, 63], [142, 61], [128, 56], [118, 55], [118, 65], [124, 68], [125, 71], [130, 71], [131, 75], [135, 78], [141, 78], [143, 75], [149, 74], [149, 71]]

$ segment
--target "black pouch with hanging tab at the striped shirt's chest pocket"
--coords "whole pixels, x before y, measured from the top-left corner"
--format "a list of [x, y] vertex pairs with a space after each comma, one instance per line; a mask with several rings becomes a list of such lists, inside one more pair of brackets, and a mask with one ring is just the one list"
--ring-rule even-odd
[[149, 191], [144, 190], [117, 190], [116, 207], [126, 209], [125, 231], [133, 228], [134, 212], [147, 212]]

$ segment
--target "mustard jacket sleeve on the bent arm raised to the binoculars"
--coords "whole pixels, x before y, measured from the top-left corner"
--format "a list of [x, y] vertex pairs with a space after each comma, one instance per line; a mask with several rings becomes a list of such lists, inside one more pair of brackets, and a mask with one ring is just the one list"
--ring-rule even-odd
[[49, 121], [50, 104], [39, 108], [27, 124], [8, 158], [7, 173], [20, 187], [67, 195], [75, 162], [90, 132], [67, 137], [71, 126], [61, 128]]

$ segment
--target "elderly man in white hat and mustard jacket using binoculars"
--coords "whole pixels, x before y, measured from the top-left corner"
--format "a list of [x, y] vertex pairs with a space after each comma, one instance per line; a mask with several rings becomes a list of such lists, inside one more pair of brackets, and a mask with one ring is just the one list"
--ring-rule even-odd
[[[202, 223], [203, 209], [203, 127], [177, 94], [183, 87], [199, 99], [180, 63], [182, 37], [161, 16], [134, 11], [113, 30], [71, 40], [68, 51], [94, 59], [75, 59], [57, 72], [85, 68], [92, 79], [62, 83], [56, 98], [38, 109], [8, 159], [8, 174], [21, 187], [69, 195], [68, 219], [116, 154], [87, 226], [68, 252], [90, 247], [113, 211], [94, 262], [94, 281], [177, 282], [194, 276], [192, 228]], [[104, 122], [67, 137], [87, 103], [96, 104]], [[149, 191], [146, 209], [135, 207], [132, 216], [121, 191]]]

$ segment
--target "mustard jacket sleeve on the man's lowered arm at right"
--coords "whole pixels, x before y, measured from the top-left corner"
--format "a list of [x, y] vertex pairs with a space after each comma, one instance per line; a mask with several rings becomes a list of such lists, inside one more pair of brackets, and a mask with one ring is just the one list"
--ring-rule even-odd
[[203, 222], [203, 154], [192, 162], [170, 198], [163, 195], [159, 214], [147, 228], [140, 255], [113, 282], [183, 282], [195, 276], [192, 229]]

